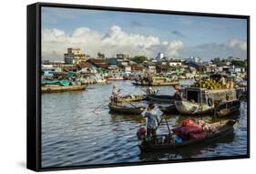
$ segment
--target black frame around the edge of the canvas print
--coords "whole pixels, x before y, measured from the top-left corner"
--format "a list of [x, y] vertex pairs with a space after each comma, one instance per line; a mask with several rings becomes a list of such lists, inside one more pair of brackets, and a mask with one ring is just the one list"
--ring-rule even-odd
[[[242, 156], [218, 157], [218, 158], [202, 158], [202, 159], [173, 159], [167, 161], [150, 161], [150, 162], [129, 162], [116, 164], [101, 165], [83, 165], [74, 167], [41, 167], [41, 8], [42, 7], [59, 7], [73, 9], [93, 9], [107, 11], [124, 11], [138, 12], [150, 14], [167, 14], [167, 15], [196, 15], [210, 17], [228, 17], [247, 20], [247, 73], [248, 73], [248, 115], [247, 115], [247, 154]], [[150, 165], [176, 162], [206, 161], [206, 160], [222, 160], [222, 159], [247, 159], [250, 158], [250, 16], [249, 15], [226, 15], [226, 14], [210, 14], [196, 12], [179, 12], [154, 9], [139, 8], [123, 8], [110, 6], [95, 5], [67, 5], [52, 3], [36, 3], [27, 5], [27, 128], [26, 128], [26, 168], [35, 171], [48, 171], [60, 169], [90, 169], [90, 168], [106, 168], [120, 166]]]

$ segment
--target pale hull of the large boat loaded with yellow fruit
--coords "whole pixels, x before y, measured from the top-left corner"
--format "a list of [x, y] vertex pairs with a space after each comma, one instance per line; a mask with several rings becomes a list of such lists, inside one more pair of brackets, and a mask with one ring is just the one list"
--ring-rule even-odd
[[200, 108], [200, 103], [186, 100], [175, 100], [175, 107], [180, 114], [185, 115], [205, 114], [209, 113], [214, 108], [206, 104], [202, 104], [202, 108]]

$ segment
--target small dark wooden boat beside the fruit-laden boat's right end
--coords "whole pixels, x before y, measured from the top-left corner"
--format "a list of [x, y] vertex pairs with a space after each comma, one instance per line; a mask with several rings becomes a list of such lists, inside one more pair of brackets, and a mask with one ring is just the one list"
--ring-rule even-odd
[[240, 110], [241, 107], [241, 101], [235, 100], [232, 102], [228, 102], [226, 104], [222, 104], [219, 107], [219, 110], [217, 111], [217, 117], [226, 117], [230, 116], [231, 114], [234, 114]]

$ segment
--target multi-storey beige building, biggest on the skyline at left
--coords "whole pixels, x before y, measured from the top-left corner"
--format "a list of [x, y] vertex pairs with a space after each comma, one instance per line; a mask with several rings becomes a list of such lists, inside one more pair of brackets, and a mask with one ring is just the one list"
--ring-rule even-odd
[[87, 56], [81, 52], [80, 48], [69, 47], [67, 53], [64, 54], [64, 59], [66, 64], [79, 64], [87, 61]]

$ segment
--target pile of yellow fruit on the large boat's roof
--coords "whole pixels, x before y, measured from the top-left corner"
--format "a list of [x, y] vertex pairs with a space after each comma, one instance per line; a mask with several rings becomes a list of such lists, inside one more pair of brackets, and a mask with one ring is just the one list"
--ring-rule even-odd
[[202, 87], [208, 89], [222, 89], [227, 88], [226, 85], [222, 86], [219, 81], [207, 79], [207, 80], [199, 80], [194, 84], [194, 87]]

